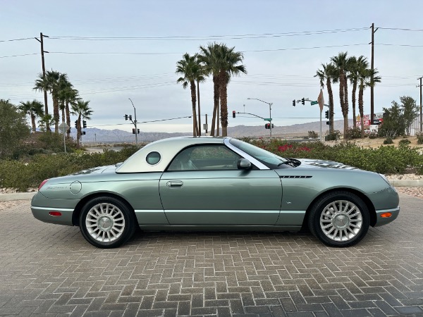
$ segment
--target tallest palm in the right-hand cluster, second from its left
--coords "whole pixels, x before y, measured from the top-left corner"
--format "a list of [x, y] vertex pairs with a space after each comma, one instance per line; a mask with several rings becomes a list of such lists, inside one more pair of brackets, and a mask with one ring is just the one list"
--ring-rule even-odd
[[347, 57], [347, 52], [339, 53], [338, 56], [331, 57], [333, 66], [336, 68], [338, 73], [338, 79], [334, 79], [333, 82], [339, 81], [339, 101], [341, 103], [341, 110], [344, 119], [343, 138], [347, 138], [348, 130], [348, 85], [347, 85], [347, 73], [350, 69], [352, 59]]

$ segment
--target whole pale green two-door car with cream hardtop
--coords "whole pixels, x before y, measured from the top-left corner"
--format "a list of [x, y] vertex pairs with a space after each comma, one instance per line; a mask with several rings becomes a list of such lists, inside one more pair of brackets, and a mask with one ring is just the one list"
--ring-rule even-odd
[[44, 180], [32, 214], [78, 225], [96, 247], [142, 230], [280, 230], [303, 227], [348, 247], [400, 212], [384, 175], [332, 161], [284, 159], [231, 137], [148, 144], [116, 166]]

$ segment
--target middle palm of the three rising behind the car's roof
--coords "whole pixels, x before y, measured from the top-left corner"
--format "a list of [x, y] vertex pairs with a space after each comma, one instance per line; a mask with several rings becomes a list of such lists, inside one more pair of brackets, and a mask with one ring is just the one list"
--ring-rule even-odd
[[[200, 62], [204, 66], [204, 74], [213, 76], [213, 116], [212, 116], [212, 127], [210, 128], [210, 135], [214, 137], [216, 118], [219, 122], [219, 101], [220, 101], [220, 89], [219, 89], [219, 64], [217, 51], [219, 44], [216, 42], [209, 43], [206, 46], [200, 46], [201, 54], [198, 56]], [[219, 135], [219, 124], [217, 125], [217, 134]]]

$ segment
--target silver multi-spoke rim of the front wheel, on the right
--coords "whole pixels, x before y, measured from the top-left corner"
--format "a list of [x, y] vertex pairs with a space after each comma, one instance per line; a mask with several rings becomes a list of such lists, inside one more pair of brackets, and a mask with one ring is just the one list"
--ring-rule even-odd
[[320, 215], [320, 228], [333, 241], [353, 239], [362, 228], [360, 209], [348, 200], [336, 200], [328, 204]]

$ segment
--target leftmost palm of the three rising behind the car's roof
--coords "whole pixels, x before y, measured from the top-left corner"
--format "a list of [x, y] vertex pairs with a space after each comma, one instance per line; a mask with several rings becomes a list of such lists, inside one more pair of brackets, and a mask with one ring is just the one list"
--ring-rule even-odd
[[176, 74], [183, 75], [179, 77], [176, 82], [178, 84], [182, 83], [183, 89], [190, 85], [191, 89], [191, 102], [192, 102], [192, 135], [200, 135], [199, 127], [197, 125], [197, 111], [195, 107], [197, 106], [197, 96], [195, 91], [195, 81], [202, 75], [202, 66], [197, 59], [197, 54], [190, 56], [190, 54], [183, 54], [183, 59], [176, 63]]

